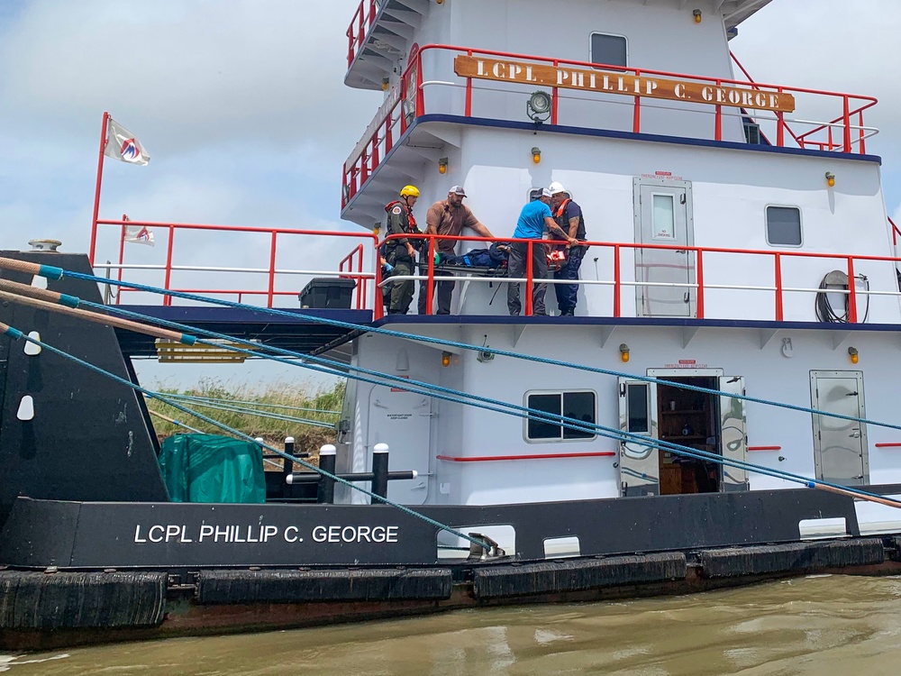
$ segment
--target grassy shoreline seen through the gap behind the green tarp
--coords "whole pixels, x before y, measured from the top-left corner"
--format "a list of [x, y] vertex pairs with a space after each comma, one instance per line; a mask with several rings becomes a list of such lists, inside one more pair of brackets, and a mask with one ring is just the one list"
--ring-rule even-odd
[[[205, 406], [204, 403], [198, 401], [177, 399], [178, 404], [209, 416], [217, 422], [236, 429], [243, 434], [248, 434], [252, 437], [262, 437], [266, 443], [275, 448], [282, 448], [285, 443], [285, 437], [293, 436], [297, 452], [314, 454], [318, 454], [319, 448], [323, 444], [334, 443], [335, 430], [333, 427], [306, 425], [302, 422], [281, 420], [265, 414], [271, 413], [278, 416], [303, 418], [334, 425], [338, 421], [339, 414], [323, 413], [322, 411], [341, 411], [341, 404], [344, 400], [343, 381], [336, 383], [332, 388], [298, 388], [296, 384], [272, 383], [265, 388], [259, 389], [252, 388], [246, 384], [234, 386], [228, 382], [209, 379], [202, 380], [194, 388], [183, 390], [160, 388], [158, 391], [163, 396], [176, 394], [214, 399], [216, 401], [210, 402], [213, 406], [259, 410], [260, 414], [250, 411], [219, 410]], [[275, 407], [265, 407], [263, 405], [274, 405]], [[205, 434], [229, 435], [223, 429], [180, 411], [175, 407], [170, 407], [158, 399], [147, 399], [147, 407], [150, 411], [177, 420], [185, 425], [190, 425]], [[190, 432], [185, 427], [170, 423], [158, 416], [151, 415], [150, 419], [160, 441], [172, 434]]]

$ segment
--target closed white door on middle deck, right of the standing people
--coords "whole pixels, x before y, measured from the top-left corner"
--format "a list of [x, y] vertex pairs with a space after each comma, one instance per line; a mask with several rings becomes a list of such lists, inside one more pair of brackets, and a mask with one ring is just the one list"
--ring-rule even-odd
[[696, 314], [691, 184], [636, 179], [636, 242], [679, 247], [635, 251], [639, 313], [648, 317]]

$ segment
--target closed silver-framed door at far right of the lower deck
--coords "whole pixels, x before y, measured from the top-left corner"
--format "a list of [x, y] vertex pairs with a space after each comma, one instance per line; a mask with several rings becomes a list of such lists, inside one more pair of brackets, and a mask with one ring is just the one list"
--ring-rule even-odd
[[[824, 413], [865, 418], [863, 373], [811, 371], [813, 407]], [[816, 478], [842, 486], [869, 483], [867, 426], [856, 420], [814, 416]]]

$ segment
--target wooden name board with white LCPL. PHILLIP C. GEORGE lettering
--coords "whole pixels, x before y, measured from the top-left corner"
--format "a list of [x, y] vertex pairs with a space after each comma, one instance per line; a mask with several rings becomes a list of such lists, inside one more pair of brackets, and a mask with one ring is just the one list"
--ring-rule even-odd
[[454, 59], [454, 72], [461, 78], [500, 80], [602, 94], [689, 101], [695, 104], [728, 105], [733, 108], [769, 110], [775, 113], [795, 111], [795, 97], [790, 94], [740, 87], [717, 87], [710, 83], [688, 80], [637, 77], [605, 70], [572, 69], [564, 66], [459, 56]]

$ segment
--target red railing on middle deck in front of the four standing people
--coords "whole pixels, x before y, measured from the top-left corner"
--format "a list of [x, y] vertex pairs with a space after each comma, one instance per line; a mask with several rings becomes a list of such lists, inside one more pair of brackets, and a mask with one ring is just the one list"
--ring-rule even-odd
[[[441, 240], [453, 240], [456, 242], [480, 242], [481, 244], [487, 246], [494, 242], [510, 242], [509, 239], [488, 239], [485, 237], [464, 237], [458, 236], [453, 237], [450, 235], [441, 235], [441, 237], [437, 237], [435, 235], [414, 235], [414, 234], [396, 234], [388, 236], [384, 241], [378, 242], [378, 246], [383, 246], [386, 242], [390, 242], [391, 240], [396, 240], [400, 238], [409, 238], [409, 239], [420, 239], [420, 240], [428, 240], [428, 254], [427, 254], [427, 263], [423, 264], [425, 270], [423, 271], [424, 277], [427, 277], [427, 297], [426, 297], [426, 307], [430, 308], [428, 314], [431, 313], [432, 308], [432, 287], [435, 281], [435, 263], [434, 263], [434, 254], [436, 251], [436, 239]], [[516, 242], [526, 242], [528, 243], [528, 251], [526, 253], [526, 269], [525, 269], [525, 299], [523, 301], [523, 315], [531, 316], [532, 315], [532, 288], [536, 282], [534, 277], [534, 271], [532, 269], [532, 247], [544, 245], [548, 243], [547, 240], [516, 240]], [[787, 293], [787, 289], [783, 285], [782, 282], [782, 273], [784, 267], [783, 259], [818, 259], [818, 260], [843, 260], [845, 264], [845, 272], [848, 275], [848, 279], [855, 279], [855, 263], [860, 261], [875, 261], [875, 262], [891, 262], [897, 265], [901, 262], [901, 258], [896, 258], [892, 256], [852, 256], [842, 253], [814, 253], [807, 251], [763, 251], [763, 250], [752, 250], [752, 249], [728, 249], [723, 247], [696, 247], [696, 246], [685, 246], [685, 245], [666, 245], [666, 244], [639, 244], [632, 242], [584, 242], [586, 246], [592, 248], [600, 248], [607, 249], [613, 251], [614, 258], [614, 279], [612, 279], [609, 284], [614, 289], [614, 297], [613, 297], [613, 316], [614, 317], [622, 317], [623, 316], [623, 288], [624, 287], [633, 287], [633, 286], [642, 286], [652, 284], [651, 282], [642, 282], [639, 280], [624, 280], [622, 276], [623, 264], [622, 264], [622, 255], [623, 251], [689, 251], [695, 254], [695, 282], [693, 284], [682, 284], [678, 285], [673, 283], [672, 286], [681, 286], [685, 288], [694, 288], [696, 291], [696, 319], [705, 319], [705, 291], [711, 288], [709, 285], [705, 285], [705, 256], [710, 256], [711, 254], [739, 254], [746, 256], [765, 256], [772, 257], [774, 260], [774, 283], [772, 285], [772, 292], [774, 294], [774, 319], [778, 322], [785, 321], [785, 294]], [[462, 268], [461, 270], [465, 270]], [[537, 281], [541, 282], [541, 279]], [[523, 282], [518, 282], [523, 283]], [[571, 282], [577, 283], [577, 282]], [[378, 289], [380, 288], [381, 277], [380, 274], [376, 273], [376, 288], [378, 296]], [[715, 285], [715, 288], [724, 288], [725, 285]], [[735, 285], [734, 288], [736, 290], [761, 290], [758, 287], [754, 288], [744, 288], [740, 285]], [[796, 290], [796, 289], [795, 289]], [[811, 293], [814, 293], [816, 289], [809, 289]], [[901, 297], [901, 293], [898, 292], [897, 288], [894, 288], [893, 293], [897, 294]], [[857, 290], [854, 283], [850, 283], [848, 285], [848, 290], [844, 293], [847, 293], [848, 296], [848, 323], [849, 324], [857, 324], [859, 321], [858, 314], [858, 301], [860, 292]], [[375, 310], [376, 318], [380, 318], [382, 314], [378, 311], [378, 303], [376, 304]]]

